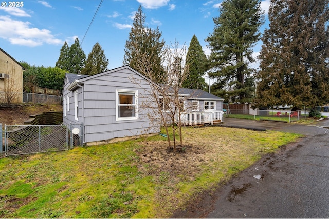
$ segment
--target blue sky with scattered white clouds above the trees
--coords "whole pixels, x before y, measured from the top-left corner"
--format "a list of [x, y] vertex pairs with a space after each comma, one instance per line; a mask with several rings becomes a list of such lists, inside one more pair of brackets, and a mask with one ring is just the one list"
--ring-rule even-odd
[[[209, 54], [205, 39], [213, 32], [213, 17], [219, 16], [222, 0], [104, 0], [86, 33], [100, 2], [25, 0], [23, 6], [9, 7], [9, 1], [2, 0], [0, 47], [17, 61], [54, 67], [64, 42], [70, 46], [78, 37], [86, 56], [98, 42], [109, 60], [108, 69], [117, 68], [122, 66], [134, 14], [142, 5], [145, 26], [159, 26], [166, 44], [176, 41], [189, 46], [195, 34]], [[267, 13], [269, 0], [262, 1], [261, 6]], [[255, 55], [260, 49], [261, 42], [254, 48]]]

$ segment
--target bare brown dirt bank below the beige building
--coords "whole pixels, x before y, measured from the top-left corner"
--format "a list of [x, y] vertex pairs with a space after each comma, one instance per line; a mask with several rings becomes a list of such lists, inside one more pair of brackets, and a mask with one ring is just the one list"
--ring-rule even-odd
[[15, 105], [0, 106], [0, 123], [3, 125], [24, 125], [30, 115], [42, 114], [43, 112], [62, 111], [61, 105]]

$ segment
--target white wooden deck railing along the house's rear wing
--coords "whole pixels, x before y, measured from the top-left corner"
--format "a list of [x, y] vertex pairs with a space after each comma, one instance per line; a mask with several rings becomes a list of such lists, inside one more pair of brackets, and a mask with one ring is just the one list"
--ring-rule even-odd
[[[223, 122], [223, 114], [223, 111], [184, 112], [180, 114], [180, 122], [188, 126], [206, 123], [213, 125], [214, 121]], [[179, 122], [177, 114], [175, 121]]]

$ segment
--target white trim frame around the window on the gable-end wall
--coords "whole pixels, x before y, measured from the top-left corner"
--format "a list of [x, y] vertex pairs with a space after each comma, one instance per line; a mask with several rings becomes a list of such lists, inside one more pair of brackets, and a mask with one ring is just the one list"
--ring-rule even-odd
[[[120, 95], [122, 98], [124, 95], [132, 95], [132, 103], [120, 103]], [[125, 113], [120, 108], [126, 108], [125, 111], [128, 115], [131, 112], [132, 116], [124, 116], [121, 113]], [[131, 109], [129, 109], [131, 107]], [[126, 89], [115, 89], [115, 117], [116, 121], [125, 121], [125, 120], [138, 120], [138, 90], [126, 90]]]

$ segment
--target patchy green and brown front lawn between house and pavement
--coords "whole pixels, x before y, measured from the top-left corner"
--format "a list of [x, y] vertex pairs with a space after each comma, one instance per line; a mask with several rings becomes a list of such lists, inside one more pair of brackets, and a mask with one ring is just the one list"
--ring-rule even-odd
[[[237, 134], [239, 133], [239, 134]], [[185, 128], [185, 152], [153, 136], [0, 159], [2, 218], [170, 217], [191, 197], [215, 188], [263, 154], [300, 135]]]

